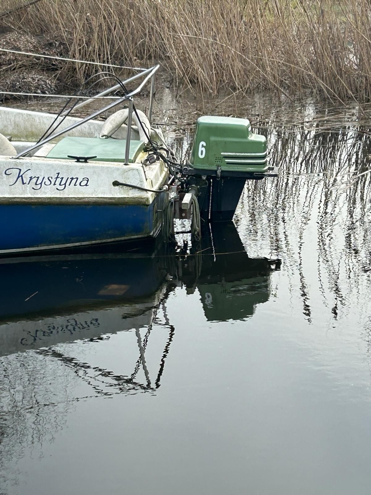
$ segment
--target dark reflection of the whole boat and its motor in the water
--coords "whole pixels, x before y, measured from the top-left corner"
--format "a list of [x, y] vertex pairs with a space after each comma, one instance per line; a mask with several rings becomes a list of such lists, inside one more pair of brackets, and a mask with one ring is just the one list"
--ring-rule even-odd
[[[60, 358], [58, 344], [133, 331], [144, 369], [148, 330], [177, 287], [198, 290], [209, 321], [244, 319], [270, 297], [270, 274], [279, 266], [279, 260], [249, 258], [232, 223], [215, 224], [198, 246], [185, 243], [172, 252], [3, 259], [0, 356], [45, 348]], [[169, 337], [162, 366], [176, 328], [164, 314]]]

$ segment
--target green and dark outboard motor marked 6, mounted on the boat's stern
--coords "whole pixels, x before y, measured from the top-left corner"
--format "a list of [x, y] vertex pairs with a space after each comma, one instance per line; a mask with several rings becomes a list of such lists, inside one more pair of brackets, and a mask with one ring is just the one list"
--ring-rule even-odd
[[277, 177], [278, 168], [267, 163], [267, 140], [251, 132], [249, 120], [204, 116], [183, 172], [209, 222], [232, 220], [246, 180]]

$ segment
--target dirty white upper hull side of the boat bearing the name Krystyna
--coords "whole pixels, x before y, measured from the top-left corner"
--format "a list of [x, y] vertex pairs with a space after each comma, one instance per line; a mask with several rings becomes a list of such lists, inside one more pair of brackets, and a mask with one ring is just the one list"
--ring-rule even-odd
[[0, 202], [119, 202], [150, 204], [155, 193], [116, 186], [125, 182], [159, 190], [168, 177], [162, 161], [145, 168], [140, 163], [90, 162], [41, 157], [0, 157]]

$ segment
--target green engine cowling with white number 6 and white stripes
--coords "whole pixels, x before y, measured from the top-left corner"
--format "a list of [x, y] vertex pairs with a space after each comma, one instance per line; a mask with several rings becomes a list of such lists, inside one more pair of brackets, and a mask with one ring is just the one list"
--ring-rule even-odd
[[220, 170], [222, 175], [241, 177], [265, 173], [267, 164], [267, 140], [251, 132], [247, 119], [234, 117], [203, 116], [197, 120], [190, 156], [194, 171]]

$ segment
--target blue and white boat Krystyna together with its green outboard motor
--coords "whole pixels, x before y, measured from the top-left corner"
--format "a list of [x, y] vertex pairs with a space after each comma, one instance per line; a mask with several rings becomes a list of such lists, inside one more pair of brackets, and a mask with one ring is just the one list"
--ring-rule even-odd
[[[277, 176], [266, 138], [232, 117], [200, 117], [189, 161], [179, 163], [151, 125], [158, 68], [69, 99], [58, 114], [0, 107], [0, 256], [153, 241], [160, 231], [171, 242], [174, 218], [191, 219], [199, 239], [202, 225], [232, 219], [247, 179]], [[144, 114], [134, 98], [147, 83]], [[107, 96], [117, 91], [123, 96]], [[106, 98], [86, 117], [72, 116]], [[97, 119], [118, 105], [126, 106]]]

